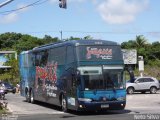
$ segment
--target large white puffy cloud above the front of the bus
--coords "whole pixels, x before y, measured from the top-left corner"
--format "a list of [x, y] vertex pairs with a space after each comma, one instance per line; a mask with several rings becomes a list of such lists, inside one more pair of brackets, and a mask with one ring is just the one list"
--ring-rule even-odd
[[97, 7], [102, 19], [109, 24], [133, 22], [144, 11], [149, 0], [105, 0]]

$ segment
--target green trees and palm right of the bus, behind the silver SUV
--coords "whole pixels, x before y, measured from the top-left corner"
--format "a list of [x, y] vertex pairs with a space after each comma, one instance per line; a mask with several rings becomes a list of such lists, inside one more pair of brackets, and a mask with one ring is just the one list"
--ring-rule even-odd
[[[122, 49], [136, 49], [137, 56], [143, 56], [145, 70], [144, 76], [152, 76], [160, 80], [160, 42], [149, 43], [143, 35], [136, 36], [121, 44]], [[138, 64], [134, 66], [135, 76], [139, 76]]]

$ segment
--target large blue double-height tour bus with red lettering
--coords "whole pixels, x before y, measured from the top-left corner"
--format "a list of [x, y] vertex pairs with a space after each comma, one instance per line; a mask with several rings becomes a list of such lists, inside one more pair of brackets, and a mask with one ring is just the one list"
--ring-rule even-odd
[[20, 54], [21, 95], [77, 111], [124, 109], [121, 47], [105, 40], [76, 40]]

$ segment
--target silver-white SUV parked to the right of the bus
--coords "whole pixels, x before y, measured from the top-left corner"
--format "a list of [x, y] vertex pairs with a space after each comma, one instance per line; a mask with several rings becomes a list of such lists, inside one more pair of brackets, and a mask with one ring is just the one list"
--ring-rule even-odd
[[149, 91], [154, 94], [160, 88], [159, 81], [154, 77], [137, 77], [134, 83], [128, 81], [126, 83], [126, 90], [128, 94], [133, 94], [134, 92], [145, 93]]

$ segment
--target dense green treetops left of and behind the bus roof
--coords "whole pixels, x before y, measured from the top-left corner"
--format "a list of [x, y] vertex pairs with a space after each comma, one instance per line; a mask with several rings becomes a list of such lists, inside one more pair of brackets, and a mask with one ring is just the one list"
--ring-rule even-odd
[[21, 33], [4, 33], [0, 35], [0, 49], [15, 50], [20, 53], [21, 51], [30, 50], [40, 45], [58, 41], [59, 39], [57, 37], [52, 38], [49, 35], [45, 35], [44, 38], [41, 39]]

